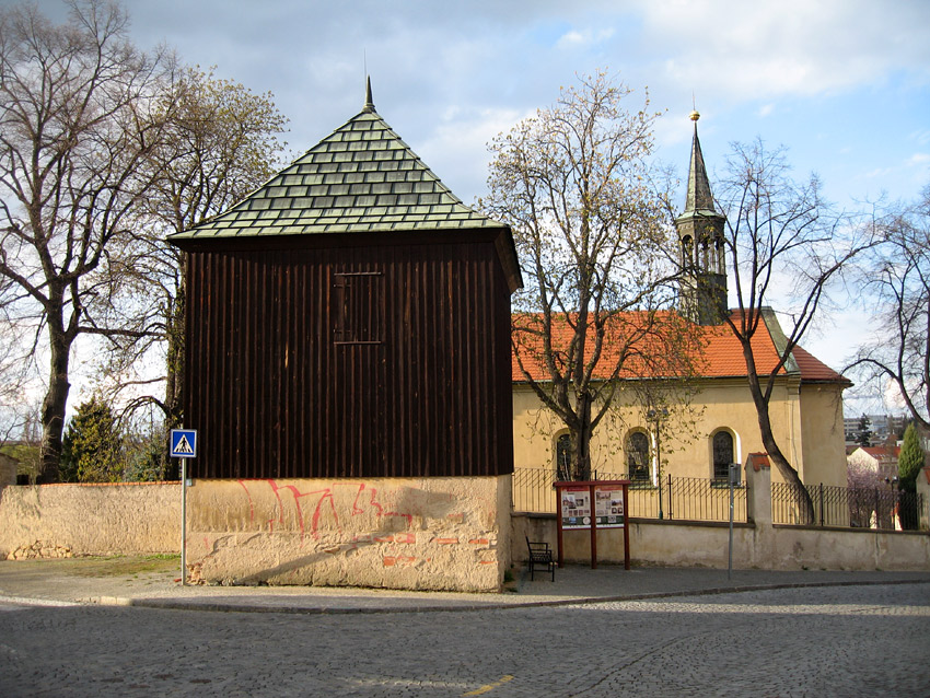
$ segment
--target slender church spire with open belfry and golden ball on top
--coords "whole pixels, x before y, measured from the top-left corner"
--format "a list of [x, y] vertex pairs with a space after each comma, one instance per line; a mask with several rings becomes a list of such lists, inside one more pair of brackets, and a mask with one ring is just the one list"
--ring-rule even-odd
[[684, 212], [675, 219], [682, 265], [679, 310], [698, 325], [719, 325], [726, 314], [725, 219], [713, 208], [697, 137], [699, 118], [700, 114], [691, 112], [695, 138], [688, 171], [688, 198]]

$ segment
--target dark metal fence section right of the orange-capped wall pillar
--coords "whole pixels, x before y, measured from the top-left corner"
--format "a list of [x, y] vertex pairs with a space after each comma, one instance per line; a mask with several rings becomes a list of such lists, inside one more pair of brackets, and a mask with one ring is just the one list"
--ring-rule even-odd
[[777, 524], [916, 531], [923, 505], [922, 495], [892, 488], [771, 485]]

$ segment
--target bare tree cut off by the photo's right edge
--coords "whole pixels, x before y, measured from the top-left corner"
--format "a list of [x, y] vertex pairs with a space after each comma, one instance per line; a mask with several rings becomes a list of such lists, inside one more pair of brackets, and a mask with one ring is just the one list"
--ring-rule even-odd
[[867, 265], [864, 288], [871, 307], [877, 310], [875, 336], [848, 369], [869, 382], [894, 383], [910, 416], [928, 433], [930, 186], [914, 205], [879, 218], [876, 228], [883, 243]]

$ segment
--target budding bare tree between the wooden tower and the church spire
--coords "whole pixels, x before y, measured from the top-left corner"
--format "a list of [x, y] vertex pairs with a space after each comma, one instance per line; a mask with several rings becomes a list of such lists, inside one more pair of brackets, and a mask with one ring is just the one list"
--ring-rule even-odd
[[671, 307], [675, 264], [666, 201], [647, 159], [656, 114], [604, 73], [562, 91], [498, 137], [484, 206], [514, 231], [527, 281], [512, 346], [545, 407], [568, 428], [574, 479], [623, 379], [667, 375], [687, 323]]

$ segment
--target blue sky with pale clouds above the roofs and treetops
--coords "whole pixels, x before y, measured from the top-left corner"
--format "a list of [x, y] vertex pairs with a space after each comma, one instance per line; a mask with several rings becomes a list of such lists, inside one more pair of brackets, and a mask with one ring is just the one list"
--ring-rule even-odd
[[[0, 3], [9, 0], [0, 0]], [[42, 0], [63, 18], [59, 0]], [[733, 141], [784, 146], [799, 177], [857, 208], [930, 184], [926, 0], [129, 0], [130, 35], [274, 95], [292, 155], [361, 110], [379, 114], [466, 203], [487, 143], [605, 69], [663, 116], [656, 156], [685, 176], [699, 132], [711, 179]], [[684, 205], [684, 194], [682, 194]], [[841, 368], [867, 336], [855, 309], [802, 344]], [[849, 411], [849, 408], [847, 409]]]

